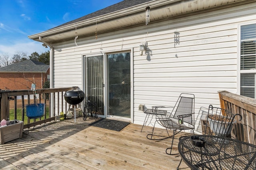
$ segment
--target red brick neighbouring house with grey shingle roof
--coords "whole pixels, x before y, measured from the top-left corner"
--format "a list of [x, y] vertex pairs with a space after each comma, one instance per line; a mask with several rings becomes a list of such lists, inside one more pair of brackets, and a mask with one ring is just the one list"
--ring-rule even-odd
[[[37, 89], [41, 89], [48, 81], [50, 65], [25, 60], [0, 68], [0, 89], [28, 90], [34, 82]], [[33, 78], [34, 77], [34, 78]]]

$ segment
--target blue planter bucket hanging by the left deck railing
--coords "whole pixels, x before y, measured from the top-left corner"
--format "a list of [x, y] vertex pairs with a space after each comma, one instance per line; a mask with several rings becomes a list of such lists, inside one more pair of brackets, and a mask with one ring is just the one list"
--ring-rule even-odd
[[26, 115], [30, 119], [42, 117], [44, 115], [44, 103], [26, 105]]

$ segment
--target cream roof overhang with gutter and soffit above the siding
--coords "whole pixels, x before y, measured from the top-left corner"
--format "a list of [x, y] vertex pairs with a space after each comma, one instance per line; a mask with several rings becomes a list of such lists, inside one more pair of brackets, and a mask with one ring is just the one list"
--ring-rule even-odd
[[74, 38], [76, 32], [79, 36], [95, 34], [96, 21], [97, 32], [106, 32], [126, 26], [143, 24], [146, 23], [147, 6], [150, 6], [150, 22], [152, 22], [162, 18], [218, 8], [227, 4], [234, 5], [237, 2], [245, 1], [250, 2], [250, 0], [154, 0], [89, 20], [49, 29], [28, 37], [40, 41], [39, 37], [41, 36], [44, 41], [50, 43]]

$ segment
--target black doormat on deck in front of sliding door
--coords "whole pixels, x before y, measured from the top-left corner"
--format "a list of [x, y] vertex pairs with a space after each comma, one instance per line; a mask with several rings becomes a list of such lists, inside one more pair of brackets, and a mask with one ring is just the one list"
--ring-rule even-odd
[[117, 120], [111, 120], [111, 119], [100, 119], [94, 123], [91, 123], [90, 126], [95, 126], [95, 127], [101, 127], [104, 129], [109, 129], [112, 131], [121, 131], [129, 125], [129, 122], [124, 122], [124, 121], [117, 121]]

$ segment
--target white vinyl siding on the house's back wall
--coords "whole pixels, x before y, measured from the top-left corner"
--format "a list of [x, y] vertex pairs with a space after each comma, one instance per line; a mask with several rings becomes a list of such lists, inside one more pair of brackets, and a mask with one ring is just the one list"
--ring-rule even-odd
[[[82, 87], [82, 55], [132, 49], [132, 123], [144, 121], [140, 104], [173, 106], [180, 93], [186, 92], [195, 95], [199, 124], [200, 109], [220, 106], [218, 91], [238, 93], [238, 25], [255, 18], [256, 3], [251, 3], [98, 33], [98, 39], [78, 33], [78, 46], [74, 40], [53, 45], [54, 87]], [[139, 45], [145, 41], [148, 49], [140, 56]]]

